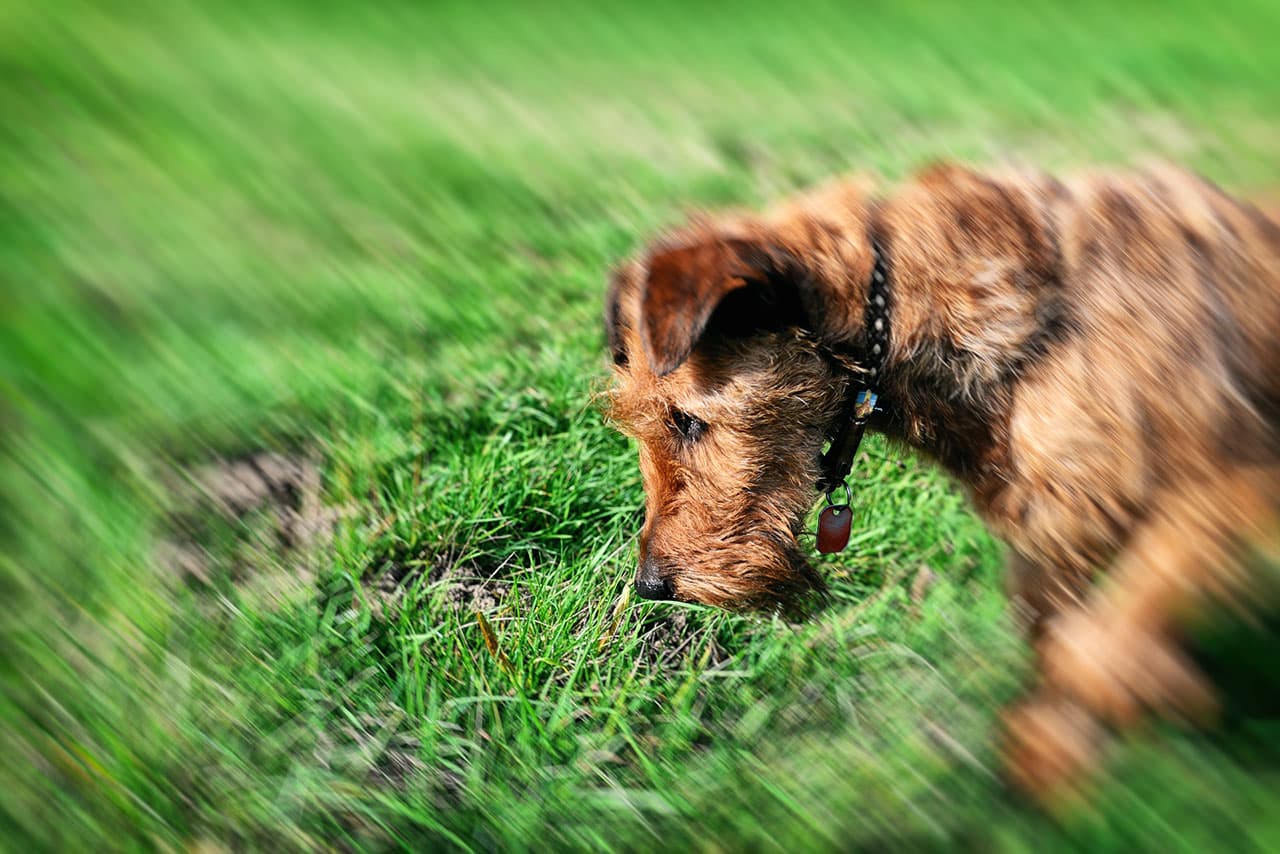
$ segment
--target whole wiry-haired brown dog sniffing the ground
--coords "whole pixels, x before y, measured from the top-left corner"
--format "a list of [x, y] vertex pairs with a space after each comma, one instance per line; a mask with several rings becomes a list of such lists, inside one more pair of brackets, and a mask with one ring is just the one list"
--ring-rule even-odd
[[867, 388], [870, 429], [946, 466], [1012, 549], [1041, 673], [1009, 716], [1018, 782], [1057, 790], [1106, 726], [1212, 709], [1175, 631], [1257, 595], [1245, 551], [1280, 501], [1280, 227], [1253, 206], [1171, 169], [841, 183], [658, 241], [607, 328], [641, 595], [820, 588], [796, 536]]

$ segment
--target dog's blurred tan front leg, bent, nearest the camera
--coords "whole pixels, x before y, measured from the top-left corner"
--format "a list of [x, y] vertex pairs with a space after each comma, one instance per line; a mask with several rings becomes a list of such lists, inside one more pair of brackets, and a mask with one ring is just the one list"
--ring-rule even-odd
[[1094, 762], [1102, 725], [1213, 714], [1215, 697], [1174, 632], [1208, 599], [1243, 604], [1239, 552], [1275, 536], [1277, 478], [1274, 466], [1238, 469], [1166, 493], [1111, 576], [1047, 626], [1042, 682], [1007, 718], [1015, 782], [1038, 796], [1064, 791]]

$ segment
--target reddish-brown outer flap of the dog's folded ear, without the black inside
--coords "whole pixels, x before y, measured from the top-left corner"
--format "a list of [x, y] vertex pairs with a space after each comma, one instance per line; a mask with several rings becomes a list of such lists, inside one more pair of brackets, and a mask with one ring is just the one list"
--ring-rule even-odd
[[664, 376], [689, 359], [730, 294], [749, 287], [772, 294], [783, 266], [776, 250], [744, 239], [654, 251], [640, 297], [640, 337], [653, 373]]

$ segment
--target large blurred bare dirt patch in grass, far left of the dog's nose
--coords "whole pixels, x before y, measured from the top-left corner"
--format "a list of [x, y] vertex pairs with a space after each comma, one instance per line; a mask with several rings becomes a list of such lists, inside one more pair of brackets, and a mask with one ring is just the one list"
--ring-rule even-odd
[[169, 533], [156, 561], [196, 585], [230, 579], [282, 593], [310, 581], [317, 548], [343, 515], [323, 503], [320, 467], [303, 455], [259, 452], [207, 463], [169, 478], [168, 492]]

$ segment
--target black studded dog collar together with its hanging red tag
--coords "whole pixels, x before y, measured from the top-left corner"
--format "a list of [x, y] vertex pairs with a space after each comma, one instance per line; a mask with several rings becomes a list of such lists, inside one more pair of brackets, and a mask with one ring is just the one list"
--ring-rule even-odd
[[[867, 288], [863, 320], [865, 352], [861, 361], [865, 367], [849, 382], [841, 406], [840, 430], [822, 456], [822, 480], [818, 481], [818, 488], [827, 495], [827, 507], [818, 519], [818, 551], [823, 554], [840, 552], [849, 544], [852, 512], [849, 508], [851, 492], [846, 478], [854, 467], [863, 434], [867, 433], [867, 421], [876, 411], [879, 399], [876, 389], [888, 356], [888, 266], [884, 252], [874, 238], [872, 255], [876, 262]], [[845, 503], [837, 504], [832, 493], [841, 487], [845, 489]]]

